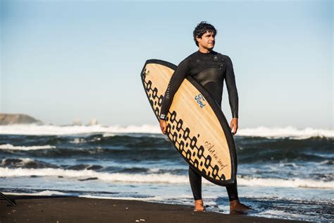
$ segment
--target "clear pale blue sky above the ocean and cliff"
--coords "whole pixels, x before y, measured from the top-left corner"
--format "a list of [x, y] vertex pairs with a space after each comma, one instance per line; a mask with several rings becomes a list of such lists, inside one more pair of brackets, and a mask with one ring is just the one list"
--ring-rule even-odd
[[[1, 113], [157, 124], [142, 67], [197, 51], [205, 20], [233, 61], [240, 128], [333, 129], [333, 1], [0, 1]], [[230, 121], [225, 86], [222, 109]]]

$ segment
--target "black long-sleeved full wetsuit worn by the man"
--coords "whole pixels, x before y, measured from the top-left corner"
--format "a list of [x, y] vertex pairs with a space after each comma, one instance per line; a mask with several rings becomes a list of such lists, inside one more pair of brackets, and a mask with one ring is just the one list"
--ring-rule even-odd
[[[204, 54], [202, 52], [194, 52], [186, 59], [184, 59], [176, 68], [168, 88], [163, 97], [161, 105], [160, 119], [166, 119], [166, 114], [171, 107], [175, 92], [180, 87], [185, 79], [185, 76], [192, 76], [198, 83], [214, 97], [219, 107], [221, 107], [221, 100], [223, 95], [223, 80], [225, 80], [228, 88], [228, 99], [233, 118], [237, 118], [238, 113], [238, 97], [237, 87], [235, 85], [235, 76], [233, 72], [233, 64], [230, 57], [219, 54], [217, 52], [209, 52]], [[194, 200], [202, 199], [202, 176], [197, 174], [191, 167], [189, 167], [189, 179]], [[226, 186], [229, 200], [237, 200], [237, 182], [231, 186]]]

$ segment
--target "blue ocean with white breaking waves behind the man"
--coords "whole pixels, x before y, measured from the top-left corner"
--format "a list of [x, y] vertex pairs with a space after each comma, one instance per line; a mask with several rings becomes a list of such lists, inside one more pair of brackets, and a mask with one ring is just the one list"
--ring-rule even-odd
[[[248, 215], [334, 221], [334, 131], [243, 128], [237, 182]], [[0, 126], [0, 191], [192, 205], [188, 165], [159, 126]], [[202, 180], [206, 209], [229, 213]]]

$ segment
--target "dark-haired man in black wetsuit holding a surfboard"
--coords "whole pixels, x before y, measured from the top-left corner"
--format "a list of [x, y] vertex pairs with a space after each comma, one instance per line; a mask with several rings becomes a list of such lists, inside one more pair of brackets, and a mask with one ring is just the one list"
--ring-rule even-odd
[[[233, 135], [237, 133], [237, 112], [238, 97], [235, 85], [235, 76], [233, 72], [232, 61], [228, 56], [214, 52], [214, 44], [216, 37], [216, 29], [213, 25], [201, 22], [197, 25], [193, 32], [194, 42], [199, 50], [184, 59], [176, 68], [168, 88], [163, 98], [160, 114], [160, 128], [163, 134], [166, 134], [166, 114], [171, 107], [175, 92], [185, 79], [190, 75], [197, 80], [204, 88], [214, 97], [214, 100], [221, 106], [223, 94], [223, 80], [225, 79], [228, 88], [228, 99], [233, 119], [230, 122], [230, 128]], [[204, 211], [202, 200], [202, 176], [197, 174], [189, 167], [189, 179], [192, 193], [194, 195], [194, 211]], [[231, 186], [226, 186], [228, 198], [230, 200], [230, 211], [245, 211], [249, 207], [240, 203], [237, 196], [237, 182]]]

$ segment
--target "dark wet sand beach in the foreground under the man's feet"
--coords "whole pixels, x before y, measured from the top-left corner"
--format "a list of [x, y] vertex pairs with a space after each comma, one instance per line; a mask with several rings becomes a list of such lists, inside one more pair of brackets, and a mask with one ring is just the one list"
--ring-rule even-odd
[[193, 212], [190, 205], [138, 200], [8, 195], [0, 203], [0, 222], [297, 222], [284, 219]]

